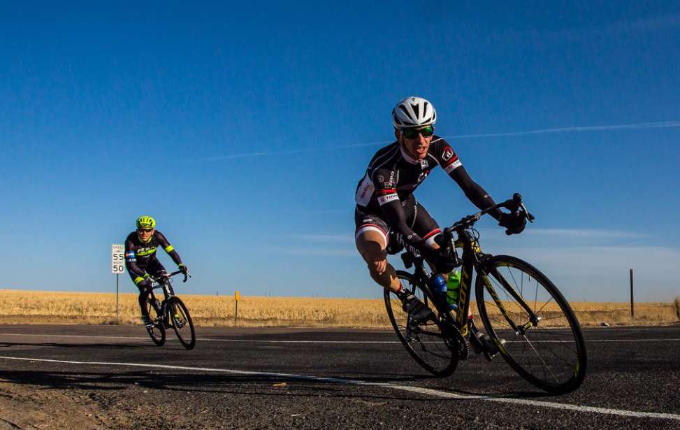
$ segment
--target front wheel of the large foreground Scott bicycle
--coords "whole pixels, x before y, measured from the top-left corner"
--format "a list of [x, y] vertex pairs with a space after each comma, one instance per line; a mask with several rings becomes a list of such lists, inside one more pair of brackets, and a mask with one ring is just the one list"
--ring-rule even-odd
[[[477, 308], [486, 333], [503, 359], [524, 379], [546, 392], [562, 394], [577, 389], [586, 377], [586, 343], [581, 325], [562, 293], [537, 268], [509, 255], [484, 261], [484, 272], [477, 273], [475, 281]], [[512, 296], [509, 287], [539, 317], [537, 322], [530, 322], [526, 309]], [[487, 306], [495, 307], [498, 314], [489, 313]], [[560, 324], [566, 324], [568, 329], [558, 327]]]

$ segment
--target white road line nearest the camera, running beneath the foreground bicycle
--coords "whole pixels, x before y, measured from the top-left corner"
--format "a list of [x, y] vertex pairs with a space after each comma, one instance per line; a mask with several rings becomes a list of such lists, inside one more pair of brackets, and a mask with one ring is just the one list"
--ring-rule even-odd
[[472, 396], [469, 394], [458, 394], [454, 392], [445, 392], [438, 389], [426, 387], [414, 387], [411, 385], [396, 385], [387, 382], [367, 382], [362, 380], [342, 379], [342, 378], [322, 378], [311, 375], [296, 375], [294, 373], [277, 373], [277, 372], [256, 372], [256, 371], [238, 371], [227, 368], [208, 368], [208, 367], [189, 367], [189, 366], [170, 366], [168, 364], [143, 364], [143, 363], [119, 363], [106, 361], [68, 361], [68, 360], [54, 360], [54, 359], [33, 359], [25, 357], [6, 357], [0, 356], [0, 359], [20, 360], [20, 361], [39, 361], [47, 363], [59, 364], [78, 364], [89, 366], [126, 366], [126, 367], [142, 367], [142, 368], [164, 368], [175, 371], [201, 371], [201, 372], [215, 372], [215, 373], [231, 373], [233, 375], [251, 375], [251, 376], [269, 376], [275, 378], [288, 378], [296, 380], [310, 380], [316, 382], [331, 382], [333, 384], [344, 385], [360, 385], [364, 387], [381, 387], [385, 389], [394, 389], [405, 392], [414, 392], [424, 394], [426, 396], [439, 397], [442, 399], [458, 399], [458, 400], [482, 400], [496, 403], [510, 403], [520, 404], [524, 406], [536, 406], [539, 408], [553, 408], [562, 410], [572, 410], [576, 412], [598, 413], [602, 415], [618, 415], [623, 417], [637, 417], [637, 418], [658, 418], [661, 420], [680, 421], [680, 415], [670, 413], [653, 413], [653, 412], [638, 412], [635, 410], [621, 410], [610, 408], [596, 408], [593, 406], [572, 405], [569, 403], [555, 403], [549, 401], [535, 401], [528, 399], [514, 399], [509, 397], [489, 397], [489, 396]]

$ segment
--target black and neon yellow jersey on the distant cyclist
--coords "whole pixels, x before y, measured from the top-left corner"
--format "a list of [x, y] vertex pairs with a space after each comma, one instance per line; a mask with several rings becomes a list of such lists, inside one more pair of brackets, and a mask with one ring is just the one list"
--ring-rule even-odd
[[[175, 251], [173, 245], [158, 230], [154, 231], [148, 242], [140, 241], [136, 231], [133, 231], [125, 239], [125, 267], [135, 284], [139, 284], [145, 279], [147, 268], [157, 268], [159, 261], [156, 258], [156, 250], [161, 247], [175, 261], [175, 264], [182, 264], [180, 255]], [[162, 266], [161, 266], [162, 268]]]

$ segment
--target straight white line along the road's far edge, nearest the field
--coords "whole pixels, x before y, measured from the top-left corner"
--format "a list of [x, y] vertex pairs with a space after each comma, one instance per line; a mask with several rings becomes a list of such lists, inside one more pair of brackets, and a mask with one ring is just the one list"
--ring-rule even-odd
[[[19, 334], [19, 333], [0, 333], [0, 336], [20, 336], [20, 337], [45, 337], [45, 338], [92, 338], [92, 339], [120, 339], [120, 340], [148, 340], [147, 336], [89, 336], [83, 334]], [[197, 338], [197, 342], [242, 342], [242, 343], [401, 343], [400, 341], [270, 341], [267, 339], [215, 339]], [[680, 338], [657, 338], [657, 339], [586, 339], [586, 343], [599, 342], [679, 342]], [[533, 341], [533, 343], [558, 343], [562, 341]]]

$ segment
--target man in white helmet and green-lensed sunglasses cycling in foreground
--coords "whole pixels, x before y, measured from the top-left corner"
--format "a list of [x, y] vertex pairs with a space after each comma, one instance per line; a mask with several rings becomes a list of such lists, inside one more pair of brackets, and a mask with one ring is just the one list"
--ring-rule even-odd
[[[415, 199], [415, 189], [432, 169], [441, 166], [477, 208], [484, 210], [495, 205], [484, 188], [470, 178], [449, 143], [435, 136], [436, 121], [435, 108], [426, 99], [410, 96], [397, 103], [392, 110], [396, 141], [373, 155], [354, 198], [356, 249], [368, 264], [371, 278], [395, 292], [404, 310], [416, 321], [426, 320], [431, 310], [407, 292], [387, 261], [388, 253], [396, 254], [400, 250], [399, 244], [391, 243], [395, 241], [391, 232], [398, 231], [407, 245], [417, 248], [433, 271], [447, 273], [452, 268], [449, 259], [437, 251], [435, 236], [440, 234], [440, 228]], [[507, 234], [521, 233], [526, 224], [523, 216], [501, 210], [491, 212], [491, 216], [505, 227]], [[476, 330], [470, 340], [477, 352], [497, 352], [486, 335]]]

